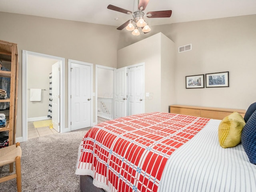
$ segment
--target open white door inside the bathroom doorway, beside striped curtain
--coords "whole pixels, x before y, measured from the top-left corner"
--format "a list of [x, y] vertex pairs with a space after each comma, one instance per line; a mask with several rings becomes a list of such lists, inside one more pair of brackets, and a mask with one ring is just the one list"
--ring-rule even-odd
[[60, 62], [52, 65], [52, 125], [60, 132]]

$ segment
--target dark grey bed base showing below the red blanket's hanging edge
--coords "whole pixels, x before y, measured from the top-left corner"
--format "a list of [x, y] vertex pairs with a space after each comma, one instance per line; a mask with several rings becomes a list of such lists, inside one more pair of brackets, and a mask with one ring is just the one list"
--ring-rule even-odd
[[102, 188], [98, 188], [92, 184], [92, 177], [89, 175], [80, 175], [81, 192], [105, 192]]

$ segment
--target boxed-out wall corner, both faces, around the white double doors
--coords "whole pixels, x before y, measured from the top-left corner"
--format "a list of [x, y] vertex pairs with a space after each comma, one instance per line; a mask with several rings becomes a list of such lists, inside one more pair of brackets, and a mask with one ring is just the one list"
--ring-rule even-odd
[[176, 103], [175, 43], [159, 32], [118, 50], [118, 68], [145, 63], [145, 112], [168, 112]]

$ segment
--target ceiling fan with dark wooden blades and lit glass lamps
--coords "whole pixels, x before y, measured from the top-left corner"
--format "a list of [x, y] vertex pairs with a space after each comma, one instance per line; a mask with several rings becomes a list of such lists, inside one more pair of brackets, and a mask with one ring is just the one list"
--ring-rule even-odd
[[[132, 34], [137, 36], [140, 35], [140, 32], [138, 28], [142, 28], [142, 32], [148, 33], [150, 32], [150, 27], [148, 26], [148, 23], [144, 20], [145, 17], [148, 18], [164, 18], [164, 17], [170, 17], [172, 15], [172, 10], [164, 10], [164, 11], [150, 11], [147, 12], [147, 14], [144, 14], [144, 10], [146, 9], [146, 6], [148, 5], [149, 0], [138, 0], [138, 10], [132, 12], [114, 5], [108, 5], [108, 9], [122, 12], [125, 14], [132, 15], [132, 19], [126, 21], [124, 24], [119, 26], [117, 29], [122, 30], [126, 27], [126, 30], [132, 31]], [[136, 25], [134, 27], [134, 25]]]

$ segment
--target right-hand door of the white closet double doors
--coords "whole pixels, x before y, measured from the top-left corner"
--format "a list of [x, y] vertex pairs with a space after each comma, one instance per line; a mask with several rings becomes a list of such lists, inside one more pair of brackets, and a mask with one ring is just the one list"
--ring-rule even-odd
[[144, 66], [128, 68], [127, 74], [127, 115], [144, 113]]

